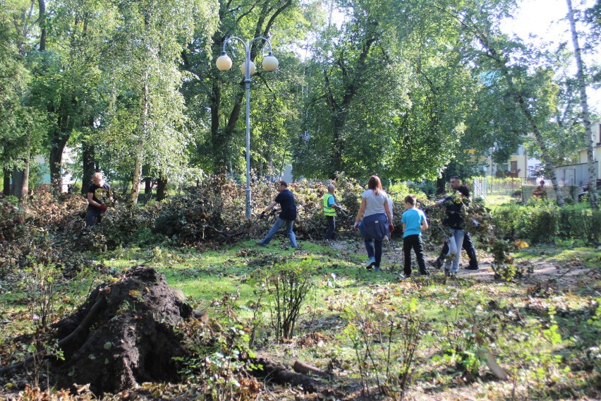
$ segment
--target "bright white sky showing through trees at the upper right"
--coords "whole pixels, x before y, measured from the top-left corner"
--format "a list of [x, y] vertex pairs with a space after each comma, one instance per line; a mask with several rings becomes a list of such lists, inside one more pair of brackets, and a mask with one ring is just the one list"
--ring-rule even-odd
[[[595, 0], [583, 0], [585, 6], [593, 6]], [[579, 8], [581, 0], [572, 0], [573, 8]], [[515, 33], [523, 40], [540, 44], [540, 42], [552, 42], [552, 47], [557, 47], [560, 42], [568, 42], [569, 49], [573, 49], [571, 35], [569, 32], [569, 22], [562, 20], [568, 13], [566, 0], [523, 0], [520, 10], [514, 16], [513, 20], [507, 20], [504, 25], [506, 33]], [[582, 28], [576, 23], [576, 28]], [[529, 35], [535, 35], [536, 38], [529, 39]], [[582, 40], [580, 41], [582, 45]], [[597, 54], [597, 58], [598, 58]], [[587, 60], [584, 60], [585, 64]], [[588, 61], [590, 63], [590, 61]], [[576, 75], [576, 66], [573, 69]], [[597, 113], [601, 112], [601, 90], [587, 88], [587, 97], [589, 109]]]

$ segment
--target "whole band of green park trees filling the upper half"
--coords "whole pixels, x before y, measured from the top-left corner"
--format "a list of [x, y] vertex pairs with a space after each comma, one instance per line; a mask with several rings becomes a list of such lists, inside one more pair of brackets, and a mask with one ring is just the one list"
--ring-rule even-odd
[[[34, 155], [55, 185], [73, 172], [130, 184], [243, 176], [244, 49], [214, 60], [229, 37], [268, 37], [280, 68], [258, 68], [250, 102], [258, 176], [436, 179], [472, 155], [502, 162], [518, 145], [547, 169], [583, 148], [582, 85], [573, 49], [536, 47], [502, 21], [517, 0], [10, 0], [0, 13], [0, 164]], [[576, 8], [594, 54], [599, 4]], [[568, 24], [566, 23], [566, 28]], [[250, 47], [260, 65], [265, 42]], [[578, 83], [578, 85], [577, 85]], [[596, 110], [591, 110], [593, 118]], [[463, 167], [461, 167], [463, 166]]]

